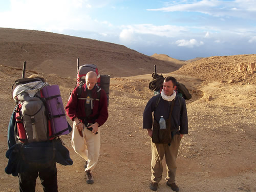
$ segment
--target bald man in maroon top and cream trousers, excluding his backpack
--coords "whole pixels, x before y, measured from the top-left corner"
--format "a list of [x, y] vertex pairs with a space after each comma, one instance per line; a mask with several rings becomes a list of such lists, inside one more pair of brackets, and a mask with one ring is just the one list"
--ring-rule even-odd
[[73, 123], [72, 146], [86, 160], [87, 184], [93, 184], [93, 169], [99, 158], [100, 126], [108, 119], [106, 93], [97, 84], [97, 74], [86, 74], [85, 83], [76, 87], [66, 106], [67, 115]]

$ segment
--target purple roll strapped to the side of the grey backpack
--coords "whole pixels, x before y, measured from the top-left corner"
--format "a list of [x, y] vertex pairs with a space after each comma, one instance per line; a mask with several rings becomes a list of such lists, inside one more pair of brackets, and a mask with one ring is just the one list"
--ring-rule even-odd
[[46, 86], [41, 91], [46, 99], [46, 108], [52, 127], [51, 137], [69, 134], [68, 121], [60, 96], [59, 86]]

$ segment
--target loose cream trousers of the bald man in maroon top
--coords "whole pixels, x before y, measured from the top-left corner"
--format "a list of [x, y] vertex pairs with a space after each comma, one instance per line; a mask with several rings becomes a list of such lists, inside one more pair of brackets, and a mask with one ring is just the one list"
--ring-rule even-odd
[[74, 122], [71, 142], [75, 152], [88, 161], [86, 170], [92, 173], [99, 159], [100, 128], [95, 135], [84, 127], [83, 137], [81, 137]]

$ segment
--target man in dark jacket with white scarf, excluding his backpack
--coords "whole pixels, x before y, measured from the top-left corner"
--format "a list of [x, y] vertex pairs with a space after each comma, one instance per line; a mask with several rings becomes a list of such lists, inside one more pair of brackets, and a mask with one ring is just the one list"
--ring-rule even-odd
[[[152, 138], [151, 184], [152, 190], [157, 190], [162, 179], [162, 159], [165, 156], [167, 177], [166, 184], [174, 191], [179, 191], [175, 183], [176, 159], [181, 138], [188, 134], [187, 110], [183, 98], [176, 95], [176, 79], [166, 77], [160, 95], [152, 97], [146, 104], [143, 113], [143, 129], [147, 129]], [[154, 122], [152, 118], [154, 112]], [[166, 121], [166, 129], [159, 129], [160, 116]], [[153, 130], [152, 130], [153, 125]]]

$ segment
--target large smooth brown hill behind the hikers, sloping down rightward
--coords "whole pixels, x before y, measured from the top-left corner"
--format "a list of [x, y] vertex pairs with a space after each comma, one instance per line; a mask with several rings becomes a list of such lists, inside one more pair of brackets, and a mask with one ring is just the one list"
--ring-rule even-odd
[[[180, 62], [159, 60], [122, 45], [88, 38], [35, 30], [0, 28], [0, 65], [27, 69], [60, 77], [75, 77], [80, 65], [94, 63], [101, 74], [125, 77], [178, 70]], [[177, 60], [178, 61], [178, 60]]]

